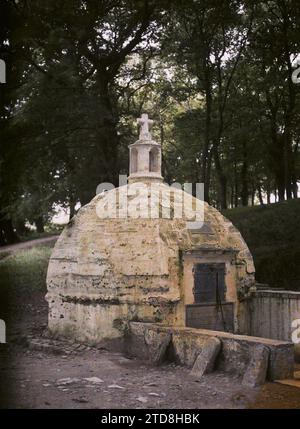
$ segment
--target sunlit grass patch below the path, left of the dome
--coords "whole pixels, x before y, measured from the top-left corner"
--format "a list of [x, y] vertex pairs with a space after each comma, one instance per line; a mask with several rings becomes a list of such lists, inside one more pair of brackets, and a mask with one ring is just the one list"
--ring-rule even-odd
[[1, 295], [44, 291], [51, 252], [49, 246], [33, 247], [0, 261]]

